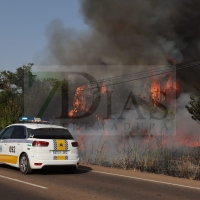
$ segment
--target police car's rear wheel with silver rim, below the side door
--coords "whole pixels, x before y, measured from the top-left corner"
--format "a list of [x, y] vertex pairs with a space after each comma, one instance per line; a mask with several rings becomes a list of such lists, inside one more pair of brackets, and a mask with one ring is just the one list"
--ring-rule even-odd
[[32, 172], [26, 153], [23, 153], [19, 158], [19, 169], [22, 174], [30, 174]]

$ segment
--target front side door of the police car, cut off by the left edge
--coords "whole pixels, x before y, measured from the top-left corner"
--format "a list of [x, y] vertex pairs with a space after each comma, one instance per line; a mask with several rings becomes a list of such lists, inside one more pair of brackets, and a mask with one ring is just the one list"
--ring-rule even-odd
[[8, 161], [8, 145], [10, 141], [10, 136], [13, 133], [14, 126], [6, 128], [0, 136], [0, 162], [7, 163]]

